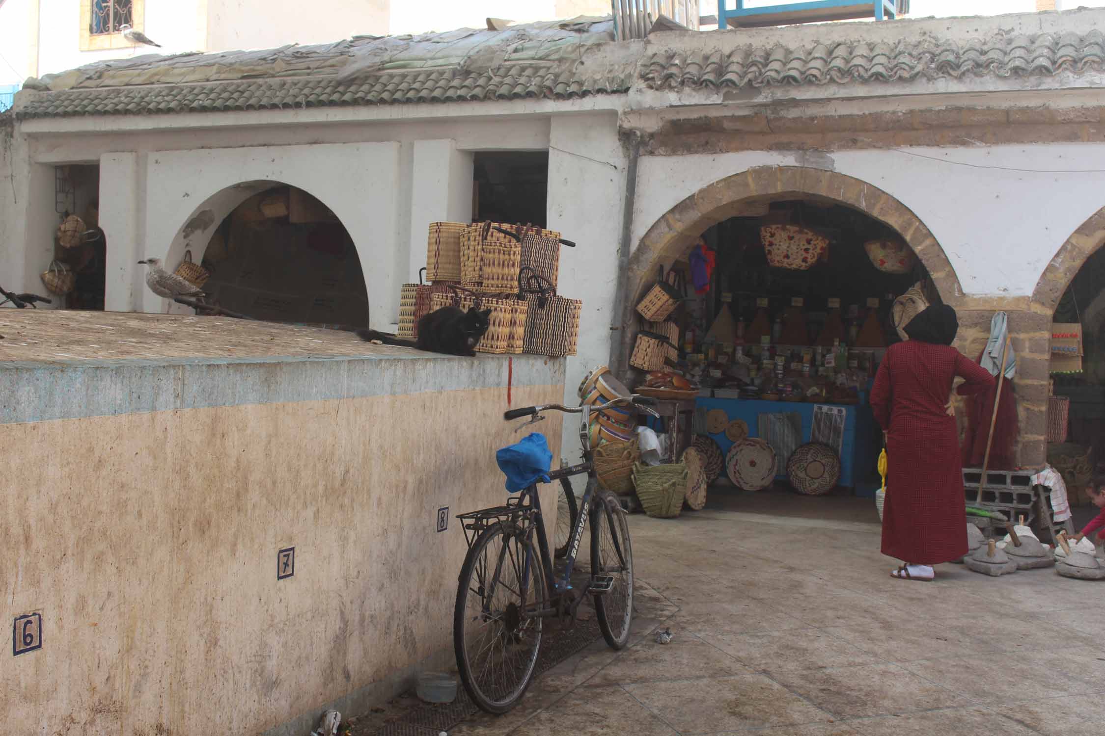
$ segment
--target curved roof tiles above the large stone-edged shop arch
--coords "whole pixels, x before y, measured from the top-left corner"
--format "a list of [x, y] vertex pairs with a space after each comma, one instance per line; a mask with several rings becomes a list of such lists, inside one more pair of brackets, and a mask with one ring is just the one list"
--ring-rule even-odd
[[729, 52], [651, 54], [641, 77], [653, 89], [720, 89], [768, 85], [824, 85], [1054, 75], [1101, 71], [1105, 36], [1094, 29], [1080, 34], [996, 34], [986, 41], [898, 40], [894, 43], [833, 43], [809, 46], [740, 46]]

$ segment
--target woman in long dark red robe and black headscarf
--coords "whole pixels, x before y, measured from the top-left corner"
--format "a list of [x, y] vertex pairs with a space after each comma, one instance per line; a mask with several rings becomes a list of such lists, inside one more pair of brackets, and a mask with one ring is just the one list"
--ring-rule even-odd
[[871, 408], [886, 437], [883, 554], [903, 564], [896, 578], [932, 580], [933, 565], [967, 554], [967, 514], [959, 431], [948, 409], [956, 376], [960, 395], [985, 391], [993, 376], [951, 346], [959, 320], [934, 305], [905, 326], [871, 390]]

